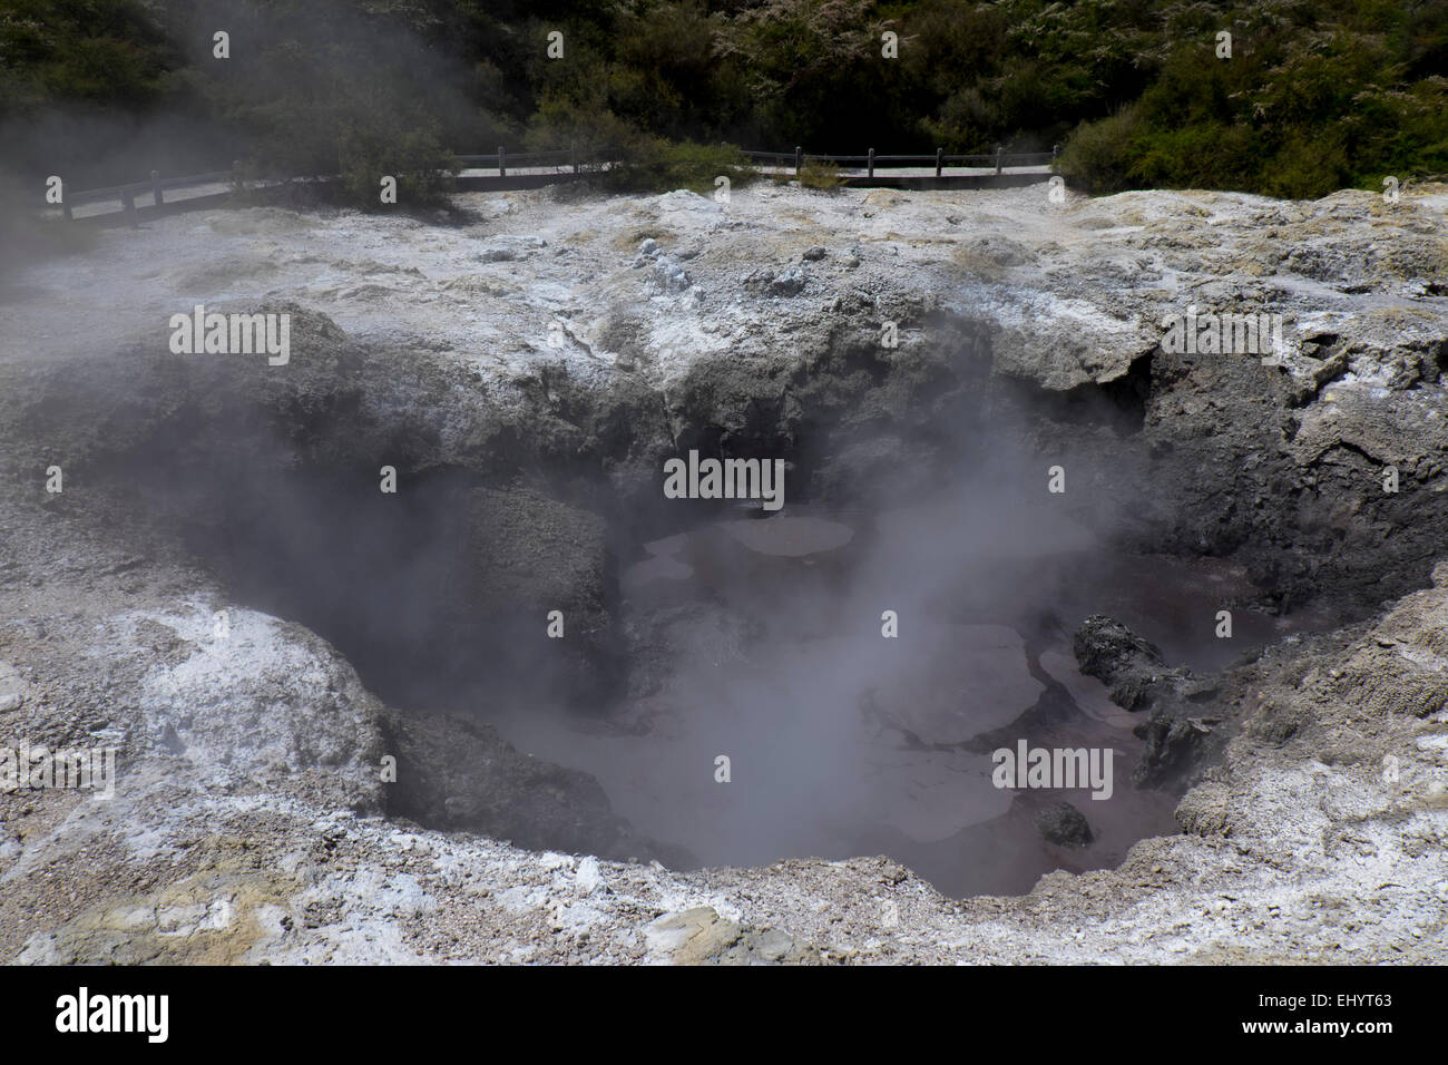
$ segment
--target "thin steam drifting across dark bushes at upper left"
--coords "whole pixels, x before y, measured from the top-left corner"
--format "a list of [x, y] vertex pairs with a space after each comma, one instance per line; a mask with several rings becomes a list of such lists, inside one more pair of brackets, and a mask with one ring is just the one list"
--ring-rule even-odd
[[[41, 203], [45, 177], [81, 191], [230, 170], [307, 177], [348, 129], [432, 129], [456, 151], [489, 151], [507, 123], [479, 107], [487, 77], [398, 17], [349, 0], [161, 3], [136, 36], [138, 71], [117, 106], [32, 104], [0, 116], [4, 171]], [[434, 32], [443, 32], [433, 28]], [[227, 57], [216, 33], [227, 35]], [[127, 59], [140, 64], [140, 59]], [[188, 65], [184, 74], [177, 70]], [[127, 68], [127, 75], [140, 74]], [[153, 83], [153, 84], [152, 84]], [[310, 168], [308, 168], [310, 167]]]

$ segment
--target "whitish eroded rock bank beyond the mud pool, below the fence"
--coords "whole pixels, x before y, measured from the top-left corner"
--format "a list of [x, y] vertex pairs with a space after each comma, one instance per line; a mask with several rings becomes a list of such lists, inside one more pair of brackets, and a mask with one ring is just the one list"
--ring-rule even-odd
[[[91, 256], [94, 304], [17, 309], [48, 356], [4, 367], [0, 417], [72, 461], [152, 439], [209, 461], [227, 440], [326, 469], [385, 456], [404, 480], [602, 469], [640, 522], [656, 519], [662, 459], [692, 446], [783, 456], [792, 498], [849, 503], [882, 459], [918, 491], [1018, 420], [1041, 454], [1072, 456], [1066, 506], [1112, 513], [1142, 549], [1232, 555], [1274, 609], [1331, 590], [1367, 610], [1428, 578], [1448, 525], [1439, 187], [1396, 207], [1370, 193], [555, 196], [463, 197], [482, 220], [445, 242], [376, 220], [368, 249], [348, 216], [303, 232], [269, 209], [127, 235], [127, 255]], [[560, 254], [478, 261], [479, 243], [537, 241]], [[130, 254], [158, 264], [145, 293]], [[686, 293], [637, 267], [669, 255], [689, 264]], [[759, 297], [740, 280], [791, 271], [809, 284]], [[290, 309], [284, 372], [167, 352], [174, 304], [203, 298]], [[1164, 349], [1163, 322], [1193, 306], [1280, 314], [1279, 365]], [[130, 355], [87, 356], [97, 335]]]

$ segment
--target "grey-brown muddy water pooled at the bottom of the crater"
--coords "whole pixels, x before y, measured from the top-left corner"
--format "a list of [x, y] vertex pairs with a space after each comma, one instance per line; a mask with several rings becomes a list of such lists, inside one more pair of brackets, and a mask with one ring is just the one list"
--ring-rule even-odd
[[[1114, 613], [1196, 668], [1287, 626], [1235, 610], [1234, 638], [1216, 639], [1216, 611], [1250, 593], [1229, 567], [1112, 556], [1044, 510], [1008, 513], [756, 511], [641, 545], [624, 613], [663, 651], [636, 656], [624, 714], [599, 727], [520, 711], [498, 726], [597, 777], [641, 833], [701, 865], [886, 853], [966, 895], [1118, 864], [1177, 830], [1174, 798], [1131, 787], [1140, 717], [1076, 669], [1076, 626]], [[1112, 794], [998, 788], [983, 733], [1109, 748]], [[1035, 813], [1058, 800], [1086, 816], [1090, 845], [1043, 839]]]

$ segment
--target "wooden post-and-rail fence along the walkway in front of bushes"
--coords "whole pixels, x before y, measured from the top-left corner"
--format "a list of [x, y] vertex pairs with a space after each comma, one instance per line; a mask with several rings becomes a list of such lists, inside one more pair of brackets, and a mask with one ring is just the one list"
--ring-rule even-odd
[[[864, 155], [825, 155], [805, 152], [802, 146], [796, 146], [792, 152], [746, 151], [744, 158], [759, 167], [785, 171], [794, 170], [796, 177], [807, 165], [827, 165], [850, 171], [863, 170], [869, 178], [875, 177], [876, 170], [922, 170], [934, 167], [935, 177], [938, 178], [944, 177], [947, 167], [993, 170], [996, 174], [1002, 174], [1006, 167], [1044, 167], [1056, 159], [1058, 152], [1060, 146], [1053, 148], [1050, 152], [1006, 152], [1002, 148], [996, 148], [990, 155], [946, 155], [944, 149], [937, 148], [934, 155], [876, 155], [875, 149], [870, 148]], [[455, 155], [453, 158], [458, 161], [459, 170], [495, 170], [500, 178], [507, 178], [510, 170], [515, 175], [518, 171], [533, 171], [536, 175], [537, 171], [546, 172], [550, 170], [555, 174], [582, 174], [613, 165], [605, 159], [581, 158], [578, 152], [571, 149], [508, 152], [500, 146], [491, 155]], [[120, 209], [126, 212], [127, 220], [135, 227], [138, 225], [138, 196], [149, 196], [152, 204], [161, 207], [165, 204], [165, 193], [169, 190], [239, 184], [240, 180], [239, 168], [171, 178], [162, 178], [159, 171], [153, 170], [148, 181], [65, 193], [61, 207], [65, 217], [71, 219], [71, 207], [119, 200]]]

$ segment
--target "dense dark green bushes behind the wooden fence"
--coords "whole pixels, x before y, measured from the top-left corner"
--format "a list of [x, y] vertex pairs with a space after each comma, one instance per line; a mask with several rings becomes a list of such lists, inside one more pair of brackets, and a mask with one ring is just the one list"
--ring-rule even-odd
[[1445, 72], [1448, 0], [0, 0], [13, 165], [97, 180], [164, 154], [426, 193], [504, 143], [707, 185], [721, 142], [1061, 143], [1098, 190], [1309, 197], [1448, 172]]

